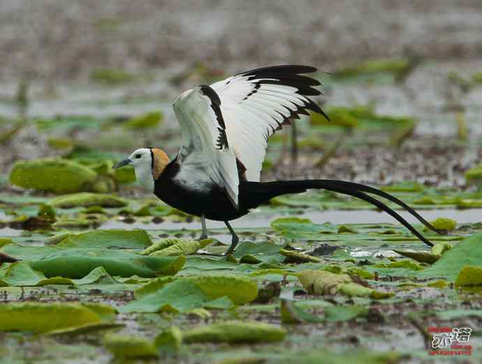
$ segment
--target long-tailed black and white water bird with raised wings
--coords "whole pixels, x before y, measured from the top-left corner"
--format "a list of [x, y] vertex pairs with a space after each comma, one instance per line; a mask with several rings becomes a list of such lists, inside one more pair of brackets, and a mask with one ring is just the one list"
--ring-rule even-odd
[[[279, 195], [324, 189], [363, 199], [386, 211], [425, 244], [422, 234], [392, 208], [372, 197], [388, 199], [440, 232], [413, 208], [387, 192], [368, 185], [328, 179], [260, 182], [268, 138], [301, 114], [322, 114], [312, 96], [320, 83], [305, 74], [311, 66], [270, 66], [238, 73], [210, 85], [184, 91], [174, 103], [182, 146], [170, 160], [158, 148], [140, 148], [114, 168], [132, 165], [138, 183], [166, 204], [201, 219], [224, 221], [231, 233], [231, 254], [239, 238], [229, 221]], [[368, 195], [371, 194], [371, 195]]]

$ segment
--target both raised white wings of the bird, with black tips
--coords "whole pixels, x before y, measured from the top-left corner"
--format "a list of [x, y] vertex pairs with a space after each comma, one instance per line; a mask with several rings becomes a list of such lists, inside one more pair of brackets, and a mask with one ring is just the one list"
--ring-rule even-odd
[[314, 89], [320, 83], [303, 75], [313, 72], [316, 68], [310, 66], [258, 68], [182, 93], [174, 109], [182, 132], [178, 159], [184, 170], [203, 169], [210, 183], [224, 188], [238, 206], [243, 172], [238, 173], [238, 165], [246, 169], [249, 181], [259, 181], [268, 138], [276, 130], [308, 111], [326, 116], [309, 98], [321, 94]]

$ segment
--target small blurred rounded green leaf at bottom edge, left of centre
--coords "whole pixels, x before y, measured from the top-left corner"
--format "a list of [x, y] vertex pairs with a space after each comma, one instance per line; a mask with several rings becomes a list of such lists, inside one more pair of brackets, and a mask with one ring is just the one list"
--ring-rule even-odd
[[154, 344], [145, 338], [133, 335], [108, 334], [104, 345], [116, 358], [149, 358], [157, 356]]

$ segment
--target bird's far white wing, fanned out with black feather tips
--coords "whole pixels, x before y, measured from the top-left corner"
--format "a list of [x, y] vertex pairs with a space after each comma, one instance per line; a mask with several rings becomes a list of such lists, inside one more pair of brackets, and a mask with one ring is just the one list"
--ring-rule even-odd
[[210, 85], [220, 100], [229, 145], [248, 181], [259, 181], [268, 138], [276, 130], [307, 110], [326, 116], [309, 98], [321, 94], [312, 87], [320, 83], [302, 75], [315, 71], [309, 66], [272, 66]]

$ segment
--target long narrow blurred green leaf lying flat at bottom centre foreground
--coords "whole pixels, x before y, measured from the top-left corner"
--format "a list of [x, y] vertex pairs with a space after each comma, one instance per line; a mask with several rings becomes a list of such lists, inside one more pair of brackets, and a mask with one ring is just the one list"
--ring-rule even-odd
[[277, 342], [284, 340], [284, 328], [262, 322], [228, 321], [184, 332], [185, 342]]

